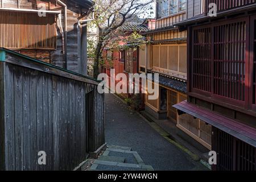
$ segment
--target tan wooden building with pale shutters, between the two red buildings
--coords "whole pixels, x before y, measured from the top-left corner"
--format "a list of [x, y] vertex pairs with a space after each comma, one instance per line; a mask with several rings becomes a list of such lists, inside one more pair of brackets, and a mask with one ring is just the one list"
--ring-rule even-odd
[[201, 13], [197, 1], [156, 1], [156, 29], [144, 33], [149, 44], [139, 50], [139, 71], [159, 73], [159, 98], [145, 98], [146, 113], [166, 120], [210, 150], [210, 125], [189, 115], [179, 116], [172, 105], [187, 100], [187, 31], [179, 31], [176, 23]]

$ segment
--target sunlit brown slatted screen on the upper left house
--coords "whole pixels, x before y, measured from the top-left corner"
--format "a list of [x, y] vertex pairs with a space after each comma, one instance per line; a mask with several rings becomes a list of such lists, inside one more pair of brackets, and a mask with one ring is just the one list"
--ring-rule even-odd
[[56, 49], [55, 14], [0, 11], [0, 47]]

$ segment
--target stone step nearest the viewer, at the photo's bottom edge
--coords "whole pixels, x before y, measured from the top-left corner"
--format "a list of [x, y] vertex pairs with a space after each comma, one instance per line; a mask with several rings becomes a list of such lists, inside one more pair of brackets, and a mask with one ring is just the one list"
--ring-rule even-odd
[[129, 163], [119, 163], [110, 162], [105, 160], [94, 160], [93, 165], [90, 170], [106, 170], [106, 171], [154, 171], [152, 166], [144, 164], [129, 164]]

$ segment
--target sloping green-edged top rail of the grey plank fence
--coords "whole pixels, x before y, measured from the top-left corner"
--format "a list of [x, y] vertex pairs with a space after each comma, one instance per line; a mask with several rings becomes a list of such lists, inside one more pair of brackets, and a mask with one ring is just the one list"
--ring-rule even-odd
[[[15, 59], [16, 57], [18, 57], [19, 59]], [[94, 78], [57, 67], [53, 64], [49, 64], [44, 61], [34, 59], [32, 57], [22, 55], [18, 52], [14, 52], [6, 48], [0, 48], [0, 61], [19, 65], [21, 67], [35, 69], [37, 71], [46, 72], [57, 76], [70, 78], [72, 80], [86, 82], [93, 85], [98, 85], [98, 83], [100, 82], [99, 80], [96, 80]]]

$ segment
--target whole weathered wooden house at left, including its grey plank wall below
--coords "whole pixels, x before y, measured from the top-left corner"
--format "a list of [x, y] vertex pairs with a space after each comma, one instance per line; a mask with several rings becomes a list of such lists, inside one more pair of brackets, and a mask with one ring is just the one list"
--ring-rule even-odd
[[104, 94], [85, 76], [92, 6], [0, 1], [0, 171], [73, 170], [105, 146]]

